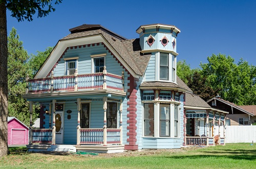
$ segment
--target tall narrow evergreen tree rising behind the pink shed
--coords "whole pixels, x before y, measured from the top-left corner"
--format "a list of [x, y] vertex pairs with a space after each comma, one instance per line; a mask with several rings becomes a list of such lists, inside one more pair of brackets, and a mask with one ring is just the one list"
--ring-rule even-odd
[[[12, 28], [8, 36], [8, 111], [9, 116], [15, 116], [21, 122], [30, 125], [29, 102], [22, 95], [26, 89], [26, 74], [28, 71], [29, 56], [23, 48], [23, 42], [19, 41], [19, 35], [15, 28]], [[38, 113], [32, 114], [34, 121]]]

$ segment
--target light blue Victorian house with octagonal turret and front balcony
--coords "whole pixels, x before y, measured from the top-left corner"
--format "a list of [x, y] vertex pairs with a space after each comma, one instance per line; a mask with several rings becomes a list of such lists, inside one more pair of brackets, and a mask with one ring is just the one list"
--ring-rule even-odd
[[33, 105], [41, 106], [40, 129], [30, 128], [29, 150], [174, 149], [186, 145], [187, 118], [196, 115], [208, 124], [215, 111], [224, 121], [225, 111], [188, 104], [193, 96], [186, 93], [192, 91], [176, 75], [177, 27], [143, 25], [136, 39], [101, 25], [70, 32], [35, 77], [26, 79], [31, 114]]

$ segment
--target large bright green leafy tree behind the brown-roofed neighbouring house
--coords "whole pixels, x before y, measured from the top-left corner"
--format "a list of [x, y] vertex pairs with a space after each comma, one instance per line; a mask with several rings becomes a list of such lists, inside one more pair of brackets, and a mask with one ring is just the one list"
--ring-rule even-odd
[[237, 105], [256, 104], [255, 66], [248, 65], [242, 58], [234, 63], [230, 56], [212, 54], [208, 63], [200, 64], [206, 85], [220, 90], [223, 99]]

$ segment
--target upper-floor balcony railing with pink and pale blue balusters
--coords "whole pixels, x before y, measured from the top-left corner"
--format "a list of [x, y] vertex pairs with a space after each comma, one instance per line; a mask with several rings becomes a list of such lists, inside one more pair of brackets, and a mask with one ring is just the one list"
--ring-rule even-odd
[[124, 75], [122, 76], [106, 73], [74, 75], [29, 79], [26, 78], [26, 94], [28, 93], [47, 93], [56, 91], [77, 91], [85, 89], [115, 89], [123, 91]]

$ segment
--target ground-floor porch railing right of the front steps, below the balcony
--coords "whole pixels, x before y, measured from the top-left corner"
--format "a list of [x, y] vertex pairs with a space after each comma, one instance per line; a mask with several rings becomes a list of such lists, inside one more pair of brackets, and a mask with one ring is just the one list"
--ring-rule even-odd
[[[106, 129], [106, 143], [121, 143], [121, 129]], [[103, 129], [80, 129], [81, 144], [103, 144]]]

